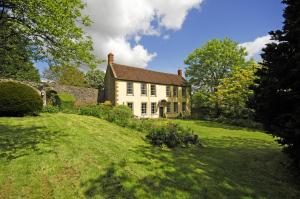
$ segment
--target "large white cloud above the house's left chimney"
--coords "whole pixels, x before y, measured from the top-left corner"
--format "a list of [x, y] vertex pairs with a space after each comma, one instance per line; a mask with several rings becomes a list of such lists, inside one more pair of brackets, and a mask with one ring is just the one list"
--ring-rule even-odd
[[[85, 0], [93, 25], [86, 29], [94, 41], [95, 54], [106, 59], [115, 54], [118, 63], [146, 67], [155, 56], [139, 42], [145, 35], [179, 30], [190, 9], [203, 0]], [[155, 26], [153, 24], [156, 24]], [[164, 38], [166, 37], [163, 36]], [[133, 39], [135, 44], [129, 41]], [[166, 38], [165, 38], [166, 39]]]

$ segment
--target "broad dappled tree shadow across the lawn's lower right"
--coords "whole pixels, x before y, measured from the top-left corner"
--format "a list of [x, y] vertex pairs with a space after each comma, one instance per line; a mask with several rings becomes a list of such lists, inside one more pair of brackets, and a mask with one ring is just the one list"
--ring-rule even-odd
[[286, 157], [252, 142], [171, 151], [139, 146], [133, 152], [140, 159], [112, 164], [82, 186], [88, 198], [299, 198], [296, 179], [281, 164]]

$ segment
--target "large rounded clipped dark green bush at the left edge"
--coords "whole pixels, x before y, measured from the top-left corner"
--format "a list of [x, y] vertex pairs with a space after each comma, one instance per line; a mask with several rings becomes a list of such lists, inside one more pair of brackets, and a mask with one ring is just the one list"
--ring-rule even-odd
[[18, 82], [0, 82], [0, 116], [38, 114], [43, 107], [39, 93]]

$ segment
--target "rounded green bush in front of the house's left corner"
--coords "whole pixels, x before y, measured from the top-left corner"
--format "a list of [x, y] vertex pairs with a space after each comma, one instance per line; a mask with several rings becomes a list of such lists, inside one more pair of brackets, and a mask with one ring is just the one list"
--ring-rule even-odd
[[109, 111], [107, 120], [120, 126], [128, 126], [133, 114], [130, 108], [125, 105], [115, 106]]

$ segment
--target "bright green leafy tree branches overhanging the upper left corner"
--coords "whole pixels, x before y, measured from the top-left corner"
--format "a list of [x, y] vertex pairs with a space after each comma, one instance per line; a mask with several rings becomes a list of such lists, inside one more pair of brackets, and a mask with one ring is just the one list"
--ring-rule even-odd
[[28, 41], [30, 60], [94, 67], [92, 40], [82, 29], [91, 24], [84, 7], [81, 0], [0, 0], [0, 29], [13, 24], [14, 34]]

